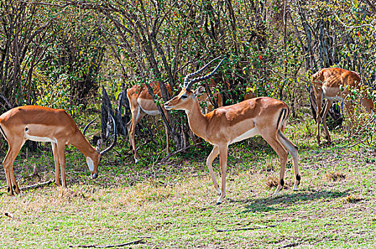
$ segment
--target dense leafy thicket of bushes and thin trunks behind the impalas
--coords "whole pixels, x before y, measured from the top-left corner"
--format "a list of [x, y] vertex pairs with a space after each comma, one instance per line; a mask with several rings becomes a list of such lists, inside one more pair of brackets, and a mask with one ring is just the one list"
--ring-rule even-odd
[[[176, 92], [184, 75], [226, 56], [215, 77], [225, 105], [253, 91], [296, 117], [320, 68], [355, 70], [375, 89], [375, 12], [369, 0], [1, 1], [1, 112], [38, 104], [74, 114], [95, 105], [100, 84], [115, 96], [122, 83], [155, 80]], [[186, 122], [170, 120], [184, 147]]]

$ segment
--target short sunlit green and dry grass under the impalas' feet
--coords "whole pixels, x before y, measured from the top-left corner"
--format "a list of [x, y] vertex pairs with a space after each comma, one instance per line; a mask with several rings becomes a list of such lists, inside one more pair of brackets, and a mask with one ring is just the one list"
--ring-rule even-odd
[[[91, 180], [85, 159], [66, 150], [68, 189], [54, 184], [10, 198], [0, 190], [0, 248], [68, 248], [114, 245], [144, 238], [127, 248], [370, 248], [376, 244], [375, 145], [348, 142], [334, 132], [334, 145], [317, 147], [314, 124], [292, 124], [287, 135], [299, 147], [302, 181], [292, 191], [292, 165], [286, 189], [271, 198], [278, 179], [276, 154], [261, 138], [231, 146], [227, 194], [216, 194], [204, 165], [211, 149], [157, 163], [153, 144], [140, 149], [133, 164], [122, 142]], [[121, 142], [120, 142], [121, 144]], [[46, 146], [48, 147], [48, 146]], [[124, 154], [123, 154], [124, 153]], [[147, 158], [147, 155], [151, 155]], [[196, 157], [196, 158], [194, 158]], [[37, 165], [41, 181], [54, 178], [52, 152], [21, 152], [14, 165], [20, 186]], [[218, 159], [214, 161], [217, 177]], [[6, 185], [0, 171], [0, 186]], [[10, 213], [13, 218], [5, 216]], [[234, 230], [254, 228], [253, 230]]]

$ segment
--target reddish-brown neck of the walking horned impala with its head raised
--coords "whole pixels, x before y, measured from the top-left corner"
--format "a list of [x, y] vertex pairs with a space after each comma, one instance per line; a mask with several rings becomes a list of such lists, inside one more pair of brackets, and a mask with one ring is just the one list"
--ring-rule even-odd
[[209, 121], [207, 117], [202, 114], [197, 97], [193, 100], [193, 105], [185, 110], [185, 113], [187, 113], [189, 127], [191, 127], [192, 132], [205, 139]]

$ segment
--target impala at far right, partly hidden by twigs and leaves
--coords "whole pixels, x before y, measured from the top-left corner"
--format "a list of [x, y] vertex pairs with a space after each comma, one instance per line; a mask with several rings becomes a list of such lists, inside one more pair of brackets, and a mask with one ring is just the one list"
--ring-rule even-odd
[[[345, 100], [345, 107], [348, 112], [351, 110], [352, 103], [346, 97], [350, 94], [351, 90], [362, 88], [362, 79], [360, 76], [352, 71], [342, 68], [324, 68], [312, 75], [312, 85], [317, 102], [317, 140], [320, 145], [320, 122], [323, 120], [323, 127], [325, 130], [328, 143], [331, 142], [328, 127], [326, 126], [326, 115], [334, 101]], [[325, 108], [322, 111], [321, 105], [323, 97], [326, 99]], [[362, 97], [360, 102], [365, 107], [367, 112], [375, 110], [375, 104], [372, 100], [365, 96]]]

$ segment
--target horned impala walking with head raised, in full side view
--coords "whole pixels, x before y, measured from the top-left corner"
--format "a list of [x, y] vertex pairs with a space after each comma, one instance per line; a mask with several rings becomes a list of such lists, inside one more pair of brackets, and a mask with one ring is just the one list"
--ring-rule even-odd
[[[221, 65], [221, 62], [219, 65]], [[210, 63], [205, 65], [204, 68]], [[219, 107], [206, 115], [200, 111], [197, 96], [204, 91], [204, 88], [201, 86], [193, 92], [191, 90], [192, 84], [209, 78], [219, 68], [219, 65], [211, 73], [200, 78], [193, 77], [197, 76], [203, 69], [187, 75], [184, 78], [184, 88], [179, 95], [164, 103], [166, 110], [185, 110], [192, 131], [214, 145], [207, 158], [207, 166], [214, 188], [220, 194], [217, 204], [222, 203], [226, 196], [226, 167], [229, 144], [255, 135], [261, 135], [276, 151], [281, 160], [280, 178], [273, 195], [276, 196], [278, 191], [283, 188], [288, 152], [293, 157], [296, 176], [293, 189], [296, 190], [301, 181], [298, 171], [298, 149], [283, 134], [288, 117], [288, 106], [284, 102], [270, 97], [256, 97], [235, 105]], [[218, 154], [221, 167], [221, 189], [219, 189], [211, 166]]]

